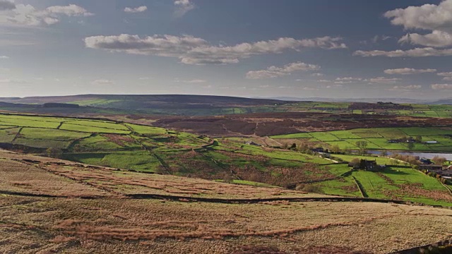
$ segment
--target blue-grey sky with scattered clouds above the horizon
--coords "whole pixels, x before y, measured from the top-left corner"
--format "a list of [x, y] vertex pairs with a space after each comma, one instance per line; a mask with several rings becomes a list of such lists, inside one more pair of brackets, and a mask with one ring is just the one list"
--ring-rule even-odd
[[452, 0], [0, 0], [0, 97], [452, 97]]

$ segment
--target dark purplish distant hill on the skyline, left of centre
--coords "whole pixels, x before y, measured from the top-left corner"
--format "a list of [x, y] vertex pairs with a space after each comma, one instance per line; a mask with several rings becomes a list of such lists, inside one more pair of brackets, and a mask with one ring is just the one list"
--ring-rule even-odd
[[78, 104], [81, 107], [88, 106], [98, 109], [184, 116], [273, 112], [281, 110], [278, 109], [278, 106], [291, 103], [277, 99], [210, 95], [71, 95], [20, 99], [2, 98], [0, 101], [15, 104]]

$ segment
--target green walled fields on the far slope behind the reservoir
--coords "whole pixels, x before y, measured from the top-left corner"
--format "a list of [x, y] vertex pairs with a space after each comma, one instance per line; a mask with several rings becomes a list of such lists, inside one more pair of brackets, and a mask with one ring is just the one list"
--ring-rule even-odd
[[[388, 140], [418, 138], [420, 142], [410, 144], [390, 143]], [[407, 127], [407, 128], [357, 128], [349, 131], [327, 131], [275, 135], [275, 140], [298, 140], [319, 143], [325, 147], [337, 145], [341, 150], [358, 150], [357, 141], [366, 141], [369, 150], [452, 151], [452, 128]], [[437, 143], [425, 143], [436, 141]]]

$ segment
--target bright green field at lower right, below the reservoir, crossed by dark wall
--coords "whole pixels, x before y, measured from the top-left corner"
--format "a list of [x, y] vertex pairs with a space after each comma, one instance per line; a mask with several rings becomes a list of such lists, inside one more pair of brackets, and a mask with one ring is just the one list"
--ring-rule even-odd
[[[377, 172], [353, 171], [340, 179], [314, 183], [330, 195], [362, 196], [393, 200], [410, 200], [429, 205], [452, 206], [452, 195], [433, 177], [412, 169], [410, 164], [387, 157], [334, 155], [333, 159], [350, 162], [352, 159], [375, 160], [385, 169]], [[358, 188], [361, 188], [359, 190]]]

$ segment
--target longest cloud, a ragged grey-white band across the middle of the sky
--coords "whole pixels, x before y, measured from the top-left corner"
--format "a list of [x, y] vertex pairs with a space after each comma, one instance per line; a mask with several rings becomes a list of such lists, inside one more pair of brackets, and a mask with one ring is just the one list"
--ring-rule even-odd
[[300, 51], [304, 48], [343, 49], [345, 44], [339, 37], [318, 37], [296, 40], [283, 37], [234, 46], [209, 44], [206, 40], [191, 35], [138, 35], [93, 36], [85, 38], [85, 47], [105, 49], [110, 52], [177, 57], [186, 64], [238, 63], [240, 59], [261, 54], [280, 54], [287, 50]]

